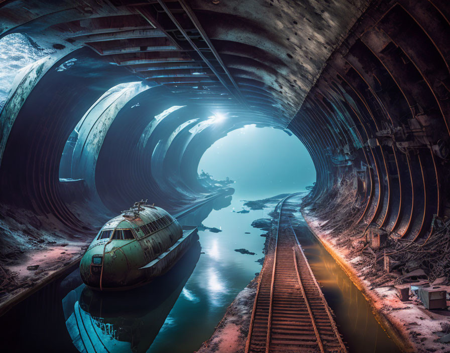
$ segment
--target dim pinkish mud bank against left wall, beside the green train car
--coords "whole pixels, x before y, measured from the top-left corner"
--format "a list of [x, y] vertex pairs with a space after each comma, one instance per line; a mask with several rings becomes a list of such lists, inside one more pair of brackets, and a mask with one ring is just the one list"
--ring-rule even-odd
[[0, 206], [0, 315], [78, 263], [93, 235], [56, 220]]

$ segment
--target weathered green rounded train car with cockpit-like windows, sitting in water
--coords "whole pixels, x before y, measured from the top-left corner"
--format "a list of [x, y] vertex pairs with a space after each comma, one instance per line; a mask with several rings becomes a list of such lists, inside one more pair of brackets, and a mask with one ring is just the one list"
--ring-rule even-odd
[[92, 289], [120, 290], [150, 282], [169, 270], [198, 240], [196, 227], [182, 229], [159, 207], [135, 203], [100, 229], [80, 263]]

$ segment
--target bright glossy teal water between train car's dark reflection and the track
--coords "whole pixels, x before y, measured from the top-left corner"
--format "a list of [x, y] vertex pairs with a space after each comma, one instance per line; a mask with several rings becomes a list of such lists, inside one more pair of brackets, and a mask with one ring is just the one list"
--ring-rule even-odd
[[[260, 237], [260, 234], [264, 232], [253, 228], [251, 224], [255, 219], [268, 217], [273, 207], [247, 214], [232, 212], [233, 209], [242, 210], [241, 200], [239, 195], [233, 195], [231, 205], [213, 210], [202, 222], [222, 232], [198, 232], [204, 254], [201, 254], [184, 286], [183, 295], [180, 295], [170, 311], [170, 322], [166, 320], [161, 327], [148, 353], [186, 353], [197, 350], [201, 342], [211, 336], [236, 295], [261, 270], [256, 260], [263, 257], [265, 238]], [[180, 220], [185, 225], [189, 225], [189, 222], [189, 219]], [[256, 255], [235, 251], [242, 248]], [[191, 300], [193, 297], [197, 301]]]

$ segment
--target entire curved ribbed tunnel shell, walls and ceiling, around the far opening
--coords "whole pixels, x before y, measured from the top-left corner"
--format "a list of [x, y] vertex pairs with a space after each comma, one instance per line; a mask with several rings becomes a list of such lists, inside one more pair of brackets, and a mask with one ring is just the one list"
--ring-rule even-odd
[[[304, 206], [331, 215], [327, 227], [341, 237], [370, 227], [426, 246], [442, 234], [446, 2], [69, 3], [37, 1], [34, 13], [19, 11], [21, 1], [0, 4], [2, 36], [26, 33], [53, 48], [20, 73], [0, 115], [6, 224], [39, 229], [47, 219], [70, 237], [143, 197], [174, 212], [217, 189], [198, 179], [203, 152], [256, 123], [307, 147], [317, 181]], [[214, 111], [228, 119], [214, 123]], [[84, 148], [76, 145], [70, 178], [60, 180], [83, 117]], [[4, 232], [2, 259], [40, 246], [27, 232]], [[430, 278], [449, 268], [439, 266], [426, 269]]]

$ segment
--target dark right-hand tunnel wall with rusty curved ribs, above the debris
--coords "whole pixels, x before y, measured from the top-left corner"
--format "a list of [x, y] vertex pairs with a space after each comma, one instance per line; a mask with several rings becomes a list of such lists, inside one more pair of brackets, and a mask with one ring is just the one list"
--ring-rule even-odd
[[380, 2], [329, 59], [290, 125], [311, 132], [317, 205], [352, 175], [353, 226], [423, 244], [434, 218], [448, 216], [448, 30], [447, 5]]

